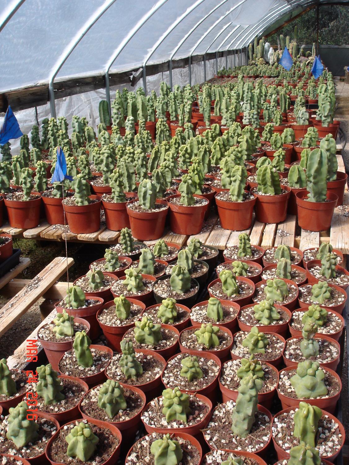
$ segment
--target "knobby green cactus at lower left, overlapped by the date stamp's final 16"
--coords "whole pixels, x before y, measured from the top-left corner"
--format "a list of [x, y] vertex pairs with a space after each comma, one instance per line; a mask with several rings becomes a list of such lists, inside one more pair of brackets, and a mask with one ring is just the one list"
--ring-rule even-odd
[[29, 407], [27, 402], [20, 402], [16, 407], [8, 409], [8, 428], [6, 437], [14, 443], [17, 449], [21, 449], [29, 443], [34, 443], [39, 434], [39, 425], [34, 420], [27, 419]]

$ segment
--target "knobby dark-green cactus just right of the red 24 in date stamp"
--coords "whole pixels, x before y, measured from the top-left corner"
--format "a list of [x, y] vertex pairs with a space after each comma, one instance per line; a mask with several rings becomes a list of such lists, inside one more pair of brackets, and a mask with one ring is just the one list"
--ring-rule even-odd
[[36, 369], [39, 375], [39, 382], [36, 385], [36, 392], [44, 398], [45, 405], [57, 404], [66, 396], [63, 394], [63, 384], [58, 378], [58, 373], [52, 369], [51, 364], [38, 366]]

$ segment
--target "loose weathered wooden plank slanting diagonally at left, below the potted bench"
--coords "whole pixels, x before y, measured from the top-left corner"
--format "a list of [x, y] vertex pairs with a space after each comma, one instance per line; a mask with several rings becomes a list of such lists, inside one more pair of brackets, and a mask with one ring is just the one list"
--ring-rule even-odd
[[74, 263], [72, 258], [56, 257], [52, 262], [0, 309], [2, 336]]

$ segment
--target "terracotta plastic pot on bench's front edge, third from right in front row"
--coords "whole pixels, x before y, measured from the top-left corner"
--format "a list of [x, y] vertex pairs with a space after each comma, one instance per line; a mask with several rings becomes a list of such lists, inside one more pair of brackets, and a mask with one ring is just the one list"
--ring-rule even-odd
[[225, 202], [218, 199], [216, 194], [215, 201], [222, 228], [230, 229], [230, 231], [243, 231], [251, 226], [256, 197], [244, 202]]

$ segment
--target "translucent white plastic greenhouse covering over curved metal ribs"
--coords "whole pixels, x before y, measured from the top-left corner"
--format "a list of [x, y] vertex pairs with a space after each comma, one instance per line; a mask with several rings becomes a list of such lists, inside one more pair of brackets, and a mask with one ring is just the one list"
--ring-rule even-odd
[[[322, 2], [329, 0], [0, 0], [0, 93], [50, 81], [146, 70], [146, 65], [206, 53], [241, 52], [256, 35], [261, 37], [278, 22]], [[236, 56], [226, 55], [218, 59], [218, 69], [227, 63], [234, 66]], [[246, 62], [245, 53], [237, 56], [240, 64]], [[190, 69], [192, 85], [204, 80], [203, 62]], [[215, 60], [207, 61], [205, 69], [206, 79], [211, 78]], [[162, 80], [169, 82], [169, 73], [144, 78], [150, 92], [158, 90]], [[172, 84], [187, 83], [188, 66], [174, 69]], [[142, 80], [135, 87], [141, 85]], [[116, 88], [110, 89], [112, 100]], [[100, 89], [58, 99], [56, 114], [68, 121], [74, 114], [84, 115], [95, 126], [99, 100], [105, 98], [106, 90]], [[22, 110], [16, 116], [28, 133], [37, 120], [51, 116], [50, 106]]]

